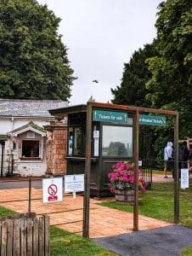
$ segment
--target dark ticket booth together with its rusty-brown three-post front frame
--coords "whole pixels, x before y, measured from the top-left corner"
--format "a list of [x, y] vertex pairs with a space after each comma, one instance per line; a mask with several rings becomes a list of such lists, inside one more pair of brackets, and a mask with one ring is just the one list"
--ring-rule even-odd
[[[140, 125], [166, 125], [163, 114], [173, 117], [175, 177], [174, 223], [179, 220], [178, 112], [153, 108], [88, 102], [49, 110], [52, 115], [68, 119], [67, 174], [85, 173], [83, 200], [83, 236], [88, 237], [89, 196], [108, 196], [108, 173], [118, 161], [134, 162], [133, 230], [138, 230], [138, 137]], [[143, 115], [146, 113], [146, 115]], [[150, 113], [155, 114], [149, 115]]]

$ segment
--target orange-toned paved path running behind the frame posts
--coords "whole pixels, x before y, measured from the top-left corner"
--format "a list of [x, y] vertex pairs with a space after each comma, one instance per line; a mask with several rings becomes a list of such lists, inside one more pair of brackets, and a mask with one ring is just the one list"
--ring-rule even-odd
[[[38, 215], [48, 213], [51, 224], [58, 225], [59, 228], [76, 232], [82, 235], [82, 207], [83, 197], [65, 195], [64, 201], [42, 204], [42, 189], [31, 189], [33, 201], [31, 202], [31, 212]], [[28, 209], [28, 189], [3, 189], [0, 190], [0, 205], [14, 210], [15, 212], [27, 212]], [[20, 201], [24, 200], [24, 201]], [[98, 200], [90, 200], [90, 238], [117, 236], [133, 232], [133, 213], [121, 212], [108, 207], [100, 207], [96, 203]], [[139, 230], [150, 230], [170, 226], [172, 224], [139, 216]]]

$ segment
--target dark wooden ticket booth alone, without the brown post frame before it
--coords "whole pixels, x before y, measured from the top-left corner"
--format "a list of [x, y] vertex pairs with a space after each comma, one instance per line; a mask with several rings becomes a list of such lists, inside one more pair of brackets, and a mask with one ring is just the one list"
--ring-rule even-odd
[[[67, 116], [67, 174], [84, 173], [86, 162], [87, 105], [50, 110]], [[91, 137], [90, 195], [108, 196], [108, 173], [118, 161], [133, 161], [133, 113], [108, 108], [93, 108]]]

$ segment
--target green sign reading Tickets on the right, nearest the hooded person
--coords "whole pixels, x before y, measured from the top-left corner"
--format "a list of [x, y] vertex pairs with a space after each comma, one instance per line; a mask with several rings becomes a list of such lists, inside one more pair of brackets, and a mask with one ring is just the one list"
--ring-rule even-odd
[[166, 126], [166, 117], [140, 114], [139, 125]]

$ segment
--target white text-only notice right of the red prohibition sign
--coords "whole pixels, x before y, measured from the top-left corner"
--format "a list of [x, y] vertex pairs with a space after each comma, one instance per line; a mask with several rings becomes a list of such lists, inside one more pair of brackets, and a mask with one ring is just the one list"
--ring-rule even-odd
[[65, 175], [65, 193], [84, 191], [84, 174]]

